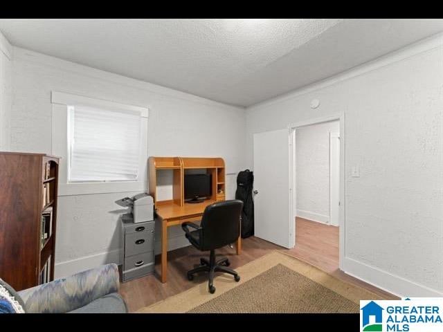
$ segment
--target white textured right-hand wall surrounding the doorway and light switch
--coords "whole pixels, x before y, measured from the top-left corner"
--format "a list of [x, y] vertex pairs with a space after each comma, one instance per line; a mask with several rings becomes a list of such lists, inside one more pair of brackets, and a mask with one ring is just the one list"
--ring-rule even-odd
[[249, 167], [253, 133], [342, 112], [343, 269], [399, 295], [443, 296], [442, 35], [248, 108]]

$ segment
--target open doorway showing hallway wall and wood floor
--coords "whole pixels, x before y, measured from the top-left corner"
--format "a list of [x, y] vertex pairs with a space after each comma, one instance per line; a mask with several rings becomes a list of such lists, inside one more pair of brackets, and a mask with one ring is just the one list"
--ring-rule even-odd
[[[293, 253], [333, 272], [340, 267], [340, 118], [293, 127]], [[344, 225], [343, 225], [344, 226]]]

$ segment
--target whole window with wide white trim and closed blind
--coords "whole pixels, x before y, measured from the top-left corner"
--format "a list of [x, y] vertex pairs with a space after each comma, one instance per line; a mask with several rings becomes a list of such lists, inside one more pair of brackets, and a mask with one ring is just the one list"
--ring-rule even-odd
[[60, 196], [146, 190], [146, 107], [59, 91], [51, 102]]

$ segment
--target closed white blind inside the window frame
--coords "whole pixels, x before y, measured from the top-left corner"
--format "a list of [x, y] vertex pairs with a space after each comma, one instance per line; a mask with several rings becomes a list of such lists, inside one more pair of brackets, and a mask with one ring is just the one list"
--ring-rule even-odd
[[69, 107], [69, 181], [136, 181], [141, 114]]

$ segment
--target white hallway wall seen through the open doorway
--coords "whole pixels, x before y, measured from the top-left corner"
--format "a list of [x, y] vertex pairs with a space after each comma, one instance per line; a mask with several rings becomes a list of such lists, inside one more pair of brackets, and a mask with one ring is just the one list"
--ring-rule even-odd
[[329, 223], [329, 133], [339, 132], [338, 121], [296, 130], [296, 216]]

